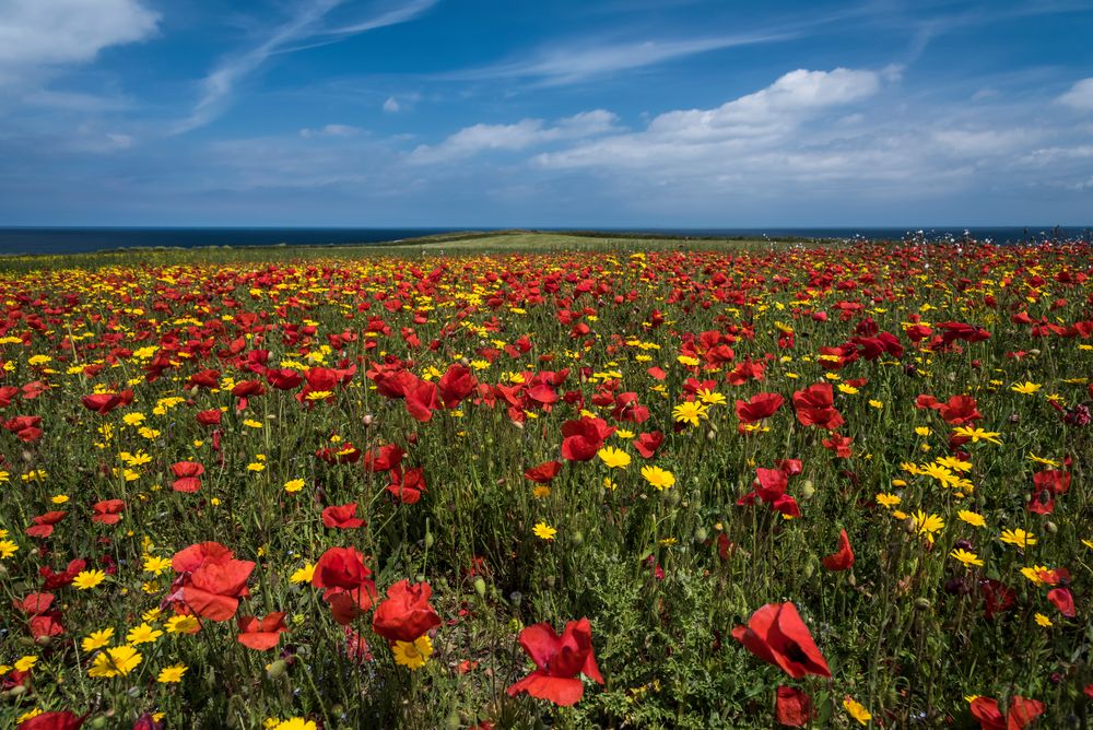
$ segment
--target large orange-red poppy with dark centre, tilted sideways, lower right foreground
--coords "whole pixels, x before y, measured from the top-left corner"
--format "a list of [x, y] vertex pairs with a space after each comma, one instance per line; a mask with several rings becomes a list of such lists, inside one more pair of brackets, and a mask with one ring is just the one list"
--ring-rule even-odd
[[737, 626], [732, 637], [763, 661], [780, 667], [794, 679], [808, 674], [831, 676], [827, 662], [791, 602], [767, 603]]

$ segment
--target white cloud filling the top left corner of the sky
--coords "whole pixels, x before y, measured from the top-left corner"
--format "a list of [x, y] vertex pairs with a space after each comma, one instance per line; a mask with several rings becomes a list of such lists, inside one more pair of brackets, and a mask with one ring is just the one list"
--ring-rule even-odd
[[0, 2], [0, 83], [37, 69], [85, 63], [104, 48], [148, 38], [158, 14], [142, 0]]

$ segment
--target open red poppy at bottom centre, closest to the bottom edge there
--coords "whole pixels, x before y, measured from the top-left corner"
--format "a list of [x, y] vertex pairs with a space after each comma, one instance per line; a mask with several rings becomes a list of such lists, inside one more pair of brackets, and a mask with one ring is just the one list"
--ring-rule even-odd
[[520, 646], [536, 670], [508, 687], [508, 696], [527, 692], [532, 697], [548, 699], [568, 707], [577, 704], [585, 694], [579, 679], [584, 674], [603, 684], [592, 650], [592, 631], [588, 619], [571, 621], [562, 636], [548, 623], [534, 624], [520, 632]]

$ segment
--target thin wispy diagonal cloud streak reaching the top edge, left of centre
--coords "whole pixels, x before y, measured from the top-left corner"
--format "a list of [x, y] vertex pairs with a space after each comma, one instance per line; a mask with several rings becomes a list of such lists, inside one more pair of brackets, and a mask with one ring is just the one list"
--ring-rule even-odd
[[215, 119], [230, 104], [238, 83], [258, 71], [274, 55], [328, 45], [376, 28], [406, 23], [437, 2], [438, 0], [410, 0], [371, 19], [326, 27], [324, 21], [342, 0], [308, 0], [290, 21], [275, 27], [260, 44], [243, 54], [228, 57], [213, 69], [201, 82], [201, 97], [197, 105], [185, 119], [172, 127], [171, 133], [181, 134]]

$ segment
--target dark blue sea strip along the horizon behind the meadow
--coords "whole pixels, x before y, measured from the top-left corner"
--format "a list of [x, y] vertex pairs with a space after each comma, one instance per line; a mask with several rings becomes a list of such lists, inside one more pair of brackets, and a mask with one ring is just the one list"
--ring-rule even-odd
[[[44, 228], [0, 227], [0, 255], [79, 254], [134, 246], [275, 246], [371, 244], [416, 238], [466, 228]], [[491, 228], [479, 228], [489, 231]], [[537, 228], [545, 231], [548, 228]], [[574, 228], [549, 228], [573, 231]], [[584, 229], [583, 229], [584, 231]], [[863, 238], [869, 240], [926, 240], [962, 238], [965, 233], [977, 240], [1012, 244], [1027, 240], [1090, 240], [1093, 226], [1086, 227], [972, 227], [972, 228], [598, 228], [604, 233], [642, 233], [672, 236], [726, 236], [745, 238]]]

